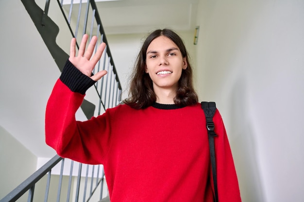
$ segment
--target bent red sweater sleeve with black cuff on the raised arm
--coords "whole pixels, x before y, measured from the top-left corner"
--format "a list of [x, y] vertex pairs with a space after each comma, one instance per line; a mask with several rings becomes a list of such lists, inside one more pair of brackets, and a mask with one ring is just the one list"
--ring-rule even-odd
[[85, 91], [94, 82], [67, 61], [48, 100], [45, 135], [46, 143], [58, 155], [82, 163], [102, 164], [109, 145], [109, 114], [85, 122], [75, 119]]

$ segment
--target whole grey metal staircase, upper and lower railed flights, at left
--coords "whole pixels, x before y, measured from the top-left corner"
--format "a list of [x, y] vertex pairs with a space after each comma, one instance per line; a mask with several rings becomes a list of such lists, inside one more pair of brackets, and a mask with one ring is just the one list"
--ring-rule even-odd
[[[81, 109], [86, 118], [90, 119], [94, 115], [103, 113], [107, 108], [117, 106], [121, 99], [121, 85], [95, 1], [88, 0], [88, 2], [82, 3], [82, 0], [80, 0], [80, 3], [75, 4], [71, 0], [69, 4], [63, 5], [63, 0], [57, 0], [57, 2], [52, 1], [52, 3], [56, 2], [58, 5], [50, 7], [50, 0], [46, 0], [44, 10], [34, 0], [21, 1], [60, 71], [62, 71], [68, 59], [68, 53], [56, 42], [58, 34], [62, 36], [62, 26], [69, 30], [69, 33], [63, 34], [66, 36], [66, 40], [69, 42], [72, 37], [75, 37], [77, 47], [84, 33], [87, 33], [90, 37], [97, 35], [97, 46], [101, 42], [107, 44], [95, 69], [96, 71], [107, 70], [108, 74], [92, 87], [96, 92], [95, 97], [97, 99], [84, 100]], [[54, 7], [56, 7], [56, 11], [50, 10]], [[49, 12], [56, 13], [56, 20], [58, 22], [59, 19], [61, 27], [50, 17]], [[59, 174], [52, 174], [52, 171], [56, 170]], [[56, 180], [58, 178], [58, 184], [55, 185], [56, 191], [51, 188], [54, 181], [51, 178], [54, 177]], [[39, 191], [35, 192], [35, 189]], [[42, 189], [44, 189], [43, 196], [41, 194]], [[48, 163], [34, 172], [0, 202], [15, 202], [20, 197], [24, 198], [25, 194], [28, 194], [28, 202], [47, 202], [48, 200], [52, 202], [110, 201], [102, 165], [86, 165], [63, 159], [58, 155], [55, 155]]]

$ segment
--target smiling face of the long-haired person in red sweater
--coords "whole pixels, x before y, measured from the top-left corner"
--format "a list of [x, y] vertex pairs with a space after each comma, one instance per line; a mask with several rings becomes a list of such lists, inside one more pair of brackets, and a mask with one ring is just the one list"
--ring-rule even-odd
[[167, 89], [175, 93], [182, 70], [187, 68], [186, 57], [177, 45], [159, 36], [150, 43], [146, 57], [145, 72], [152, 79], [154, 92]]

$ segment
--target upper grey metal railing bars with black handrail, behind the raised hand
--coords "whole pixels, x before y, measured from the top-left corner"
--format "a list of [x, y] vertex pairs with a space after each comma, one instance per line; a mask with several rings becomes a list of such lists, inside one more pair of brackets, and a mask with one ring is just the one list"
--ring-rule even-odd
[[[120, 100], [121, 100], [121, 85], [120, 85], [120, 81], [118, 78], [118, 73], [113, 61], [113, 57], [110, 51], [110, 48], [108, 46], [108, 41], [105, 35], [105, 31], [102, 27], [101, 24], [101, 18], [99, 16], [98, 13], [98, 9], [96, 6], [96, 3], [94, 0], [88, 0], [87, 3], [83, 3], [82, 0], [80, 0], [80, 3], [76, 4], [78, 6], [78, 16], [77, 16], [77, 21], [75, 23], [71, 23], [72, 22], [72, 14], [73, 14], [73, 0], [71, 1], [71, 4], [69, 5], [69, 9], [68, 10], [68, 15], [64, 12], [64, 5], [63, 5], [63, 1], [64, 0], [57, 0], [58, 4], [61, 7], [61, 10], [64, 14], [64, 17], [69, 25], [69, 29], [72, 33], [72, 35], [77, 39], [81, 40], [82, 35], [84, 35], [85, 33], [87, 33], [90, 36], [96, 35], [98, 37], [98, 39], [100, 40], [100, 43], [98, 43], [98, 45], [101, 44], [101, 42], [105, 42], [106, 43], [106, 47], [105, 47], [105, 54], [103, 55], [103, 57], [101, 58], [101, 60], [98, 62], [97, 67], [94, 69], [93, 74], [98, 71], [102, 70], [107, 70], [108, 74], [101, 78], [100, 81], [97, 81], [95, 84], [95, 88], [97, 93], [100, 96], [100, 103], [99, 103], [99, 109], [98, 109], [98, 114], [101, 113], [101, 106], [103, 109], [107, 109], [113, 106], [116, 106], [119, 104]], [[65, 0], [67, 1], [67, 0]], [[47, 2], [48, 3], [48, 2]], [[46, 3], [46, 4], [47, 4]], [[85, 10], [83, 10], [83, 4], [85, 5]], [[91, 5], [91, 7], [89, 6]], [[46, 5], [47, 7], [47, 5]], [[68, 8], [68, 6], [66, 6], [66, 8]], [[90, 10], [91, 8], [91, 10]], [[84, 14], [83, 14], [83, 13]], [[67, 17], [68, 16], [68, 17]], [[82, 24], [81, 16], [84, 16], [84, 22]], [[91, 21], [89, 22], [88, 20], [91, 19]], [[74, 25], [74, 27], [72, 27]], [[90, 25], [90, 26], [89, 26]], [[90, 27], [89, 31], [87, 31], [87, 27]], [[82, 29], [81, 29], [82, 28]], [[75, 30], [75, 31], [73, 31]], [[82, 30], [82, 32], [81, 32]], [[79, 36], [79, 32], [81, 32], [81, 36]], [[94, 33], [96, 32], [96, 33]], [[98, 45], [96, 46], [95, 50], [97, 50]], [[78, 43], [76, 44], [76, 46], [78, 47]]]

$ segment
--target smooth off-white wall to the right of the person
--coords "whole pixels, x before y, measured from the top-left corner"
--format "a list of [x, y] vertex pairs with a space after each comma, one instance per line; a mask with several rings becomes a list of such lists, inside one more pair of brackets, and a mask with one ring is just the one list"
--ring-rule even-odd
[[303, 202], [304, 1], [201, 0], [202, 100], [225, 122], [244, 202]]

